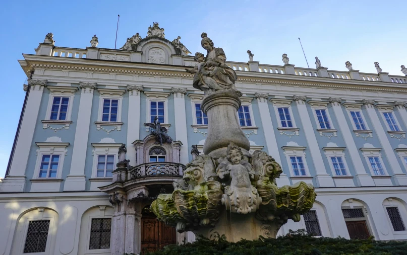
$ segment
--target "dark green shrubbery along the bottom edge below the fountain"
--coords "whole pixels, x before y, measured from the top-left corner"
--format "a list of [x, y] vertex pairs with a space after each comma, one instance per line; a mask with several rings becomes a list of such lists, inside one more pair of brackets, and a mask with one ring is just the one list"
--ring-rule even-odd
[[224, 236], [216, 240], [198, 237], [193, 243], [171, 244], [149, 255], [319, 255], [319, 254], [407, 254], [405, 241], [348, 240], [312, 237], [304, 230], [291, 231], [276, 239], [260, 236], [259, 240], [228, 242]]

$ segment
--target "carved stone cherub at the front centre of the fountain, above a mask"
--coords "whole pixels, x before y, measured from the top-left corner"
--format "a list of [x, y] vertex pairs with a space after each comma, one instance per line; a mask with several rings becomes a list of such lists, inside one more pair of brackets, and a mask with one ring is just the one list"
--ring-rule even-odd
[[226, 158], [220, 159], [216, 175], [220, 179], [231, 179], [230, 186], [224, 189], [230, 205], [235, 207], [237, 213], [247, 214], [256, 207], [258, 193], [251, 184], [251, 180], [254, 180], [253, 168], [242, 159], [242, 149], [230, 143]]

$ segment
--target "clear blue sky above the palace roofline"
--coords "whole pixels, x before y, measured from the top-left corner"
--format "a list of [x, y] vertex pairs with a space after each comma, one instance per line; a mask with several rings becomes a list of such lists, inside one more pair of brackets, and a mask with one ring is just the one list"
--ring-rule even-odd
[[85, 48], [94, 34], [100, 48], [114, 48], [120, 15], [117, 48], [137, 32], [142, 38], [148, 26], [158, 22], [165, 38], [181, 42], [193, 54], [204, 52], [201, 33], [227, 60], [246, 62], [247, 50], [260, 64], [289, 63], [315, 68], [315, 56], [331, 70], [346, 71], [345, 62], [361, 72], [403, 75], [407, 65], [405, 0], [399, 1], [2, 1], [0, 4], [0, 177], [6, 173], [24, 101], [26, 80], [18, 59], [35, 54], [47, 33], [55, 46]]

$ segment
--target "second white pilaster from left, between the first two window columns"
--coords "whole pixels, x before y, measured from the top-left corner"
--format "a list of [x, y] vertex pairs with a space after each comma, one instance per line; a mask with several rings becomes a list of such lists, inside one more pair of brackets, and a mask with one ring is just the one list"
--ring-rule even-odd
[[90, 114], [92, 111], [93, 90], [95, 83], [79, 82], [82, 89], [79, 102], [78, 120], [76, 123], [74, 148], [72, 150], [71, 169], [65, 180], [64, 191], [85, 190], [85, 160], [88, 148]]

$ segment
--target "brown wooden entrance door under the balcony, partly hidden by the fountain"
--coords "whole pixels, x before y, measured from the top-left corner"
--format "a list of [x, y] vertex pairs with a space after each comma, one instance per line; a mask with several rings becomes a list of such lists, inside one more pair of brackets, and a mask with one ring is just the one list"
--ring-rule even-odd
[[145, 251], [162, 249], [165, 245], [177, 243], [176, 229], [158, 221], [147, 205], [141, 217], [141, 254]]

